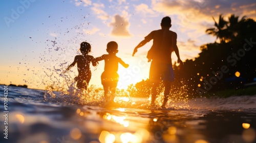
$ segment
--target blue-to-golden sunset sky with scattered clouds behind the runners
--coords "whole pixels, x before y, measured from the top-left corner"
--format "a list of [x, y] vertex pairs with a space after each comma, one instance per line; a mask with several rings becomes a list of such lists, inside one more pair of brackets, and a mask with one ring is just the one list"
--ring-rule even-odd
[[[172, 18], [178, 35], [177, 45], [183, 61], [194, 59], [200, 45], [214, 42], [216, 37], [205, 30], [214, 26], [223, 14], [256, 19], [254, 0], [216, 1], [125, 1], [125, 0], [2, 0], [0, 2], [0, 84], [26, 84], [44, 89], [49, 84], [66, 84], [62, 71], [78, 54], [79, 45], [92, 45], [90, 55], [107, 54], [109, 41], [118, 43], [117, 56], [130, 67], [119, 65], [119, 88], [148, 78], [150, 63], [146, 53], [152, 41], [132, 57], [134, 47], [153, 30], [160, 29], [164, 16]], [[173, 63], [177, 61], [172, 55]], [[101, 87], [100, 75], [104, 62], [92, 69], [90, 85]], [[74, 78], [76, 66], [65, 76]]]

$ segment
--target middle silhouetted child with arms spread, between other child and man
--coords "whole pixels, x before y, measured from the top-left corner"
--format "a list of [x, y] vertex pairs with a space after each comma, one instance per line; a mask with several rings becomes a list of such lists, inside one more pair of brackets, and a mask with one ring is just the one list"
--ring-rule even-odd
[[[117, 74], [118, 63], [123, 67], [129, 67], [129, 64], [126, 64], [122, 61], [121, 58], [116, 56], [118, 44], [115, 41], [111, 41], [106, 45], [106, 52], [109, 54], [102, 55], [100, 57], [94, 58], [93, 62], [98, 62], [101, 60], [105, 61], [104, 71], [101, 74], [101, 84], [104, 88], [104, 97], [105, 100], [114, 101], [115, 92], [117, 87], [117, 82], [119, 80], [119, 75]], [[108, 93], [111, 91], [111, 97], [108, 98]]]

